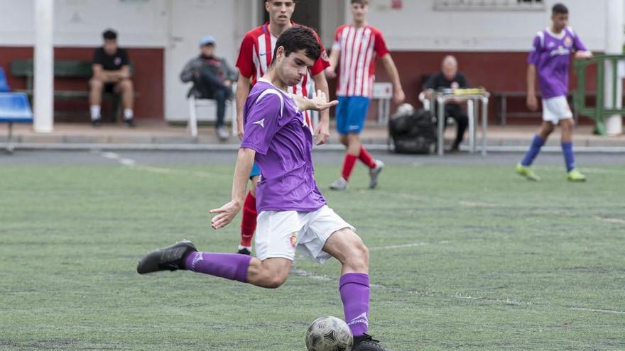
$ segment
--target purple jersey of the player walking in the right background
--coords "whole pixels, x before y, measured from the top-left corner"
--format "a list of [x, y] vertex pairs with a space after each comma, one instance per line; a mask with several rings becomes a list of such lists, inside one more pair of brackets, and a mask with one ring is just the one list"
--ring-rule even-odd
[[549, 29], [536, 34], [528, 63], [536, 65], [543, 99], [567, 96], [570, 57], [575, 51], [586, 51], [586, 47], [570, 27], [564, 28], [559, 35]]

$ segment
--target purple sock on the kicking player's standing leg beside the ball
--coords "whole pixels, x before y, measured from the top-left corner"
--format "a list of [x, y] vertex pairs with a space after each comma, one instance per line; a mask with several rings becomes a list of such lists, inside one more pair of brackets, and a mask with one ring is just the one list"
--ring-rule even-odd
[[352, 335], [363, 335], [369, 329], [369, 275], [343, 274], [339, 280], [339, 291], [341, 291], [345, 321], [352, 330]]

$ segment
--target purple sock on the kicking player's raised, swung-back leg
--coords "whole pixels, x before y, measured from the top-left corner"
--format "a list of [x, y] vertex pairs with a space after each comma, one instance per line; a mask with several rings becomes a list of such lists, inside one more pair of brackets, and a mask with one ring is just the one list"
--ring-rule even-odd
[[250, 260], [248, 255], [196, 251], [185, 257], [185, 268], [192, 272], [246, 283]]

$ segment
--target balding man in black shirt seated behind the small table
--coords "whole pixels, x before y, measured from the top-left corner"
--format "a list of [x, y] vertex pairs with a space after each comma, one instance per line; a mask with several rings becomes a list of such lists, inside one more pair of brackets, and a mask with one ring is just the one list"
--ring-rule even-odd
[[[423, 84], [425, 97], [428, 99], [430, 99], [430, 94], [427, 89], [456, 89], [466, 87], [469, 87], [467, 79], [464, 78], [464, 74], [458, 72], [458, 62], [456, 58], [451, 55], [445, 56], [445, 58], [442, 59], [440, 72], [432, 74], [428, 81]], [[450, 100], [445, 104], [445, 116], [443, 117], [445, 126], [447, 126], [447, 117], [454, 118], [458, 125], [456, 140], [452, 145], [451, 151], [458, 150], [460, 143], [462, 143], [462, 138], [464, 138], [464, 130], [467, 130], [467, 126], [469, 126], [469, 117], [467, 113], [462, 111], [462, 106], [458, 104], [459, 102], [460, 101]], [[438, 110], [433, 111], [436, 112]]]

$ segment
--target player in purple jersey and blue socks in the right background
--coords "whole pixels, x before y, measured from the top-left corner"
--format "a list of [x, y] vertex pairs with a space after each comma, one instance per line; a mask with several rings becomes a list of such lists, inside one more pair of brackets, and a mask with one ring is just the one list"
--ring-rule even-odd
[[572, 28], [567, 26], [569, 11], [562, 4], [555, 4], [551, 10], [552, 25], [541, 30], [534, 37], [532, 50], [528, 57], [528, 96], [527, 105], [531, 111], [538, 109], [536, 100], [536, 72], [538, 84], [543, 98], [543, 124], [534, 136], [530, 149], [521, 163], [516, 165], [516, 172], [529, 180], [540, 178], [531, 169], [534, 158], [540, 152], [548, 136], [558, 123], [562, 127], [562, 154], [567, 169], [567, 179], [571, 182], [584, 182], [586, 177], [575, 169], [573, 154], [573, 115], [567, 102], [569, 84], [570, 55], [575, 53], [576, 59], [592, 56]]

